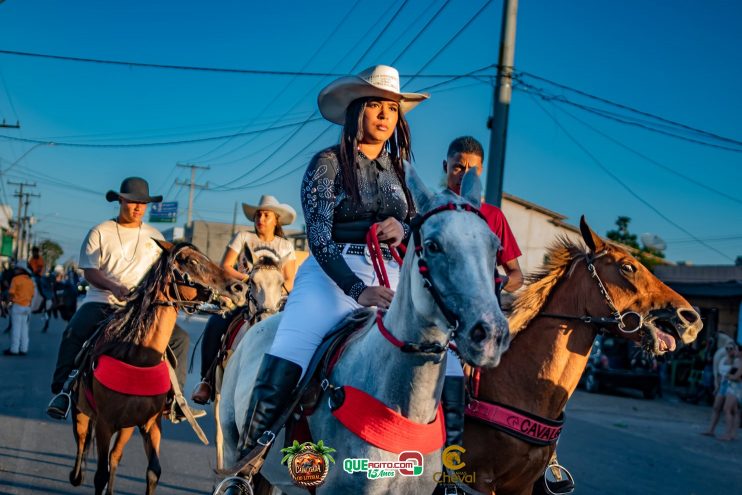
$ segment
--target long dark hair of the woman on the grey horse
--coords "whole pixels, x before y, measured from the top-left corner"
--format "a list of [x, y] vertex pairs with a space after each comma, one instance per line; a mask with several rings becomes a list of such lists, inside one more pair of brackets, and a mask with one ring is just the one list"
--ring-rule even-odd
[[[343, 126], [343, 133], [340, 136], [338, 161], [340, 162], [343, 189], [356, 202], [361, 200], [361, 194], [358, 191], [358, 174], [356, 173], [356, 169], [358, 168], [358, 143], [363, 139], [363, 113], [366, 110], [366, 104], [368, 102], [379, 100], [381, 98], [378, 97], [359, 98], [353, 100], [345, 111], [345, 125]], [[385, 147], [392, 159], [394, 172], [402, 184], [402, 190], [407, 199], [407, 218], [409, 219], [414, 216], [415, 203], [409, 189], [407, 189], [403, 162], [405, 160], [411, 160], [413, 155], [410, 126], [407, 124], [407, 119], [405, 119], [401, 111], [398, 113], [397, 126], [394, 129], [394, 134], [386, 142]]]

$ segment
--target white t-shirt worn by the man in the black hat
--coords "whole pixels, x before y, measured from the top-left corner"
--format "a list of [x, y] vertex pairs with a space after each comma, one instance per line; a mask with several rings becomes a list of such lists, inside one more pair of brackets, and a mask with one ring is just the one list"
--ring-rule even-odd
[[[90, 229], [85, 237], [80, 249], [80, 268], [98, 269], [107, 278], [133, 289], [162, 254], [153, 238], [165, 240], [159, 230], [144, 222], [141, 227], [131, 228], [107, 220]], [[111, 291], [92, 284], [83, 304], [88, 302], [124, 304]]]

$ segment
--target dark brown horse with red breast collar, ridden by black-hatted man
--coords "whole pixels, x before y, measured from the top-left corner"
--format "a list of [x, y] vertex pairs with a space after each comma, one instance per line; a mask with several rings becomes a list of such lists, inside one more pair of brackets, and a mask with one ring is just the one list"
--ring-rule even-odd
[[[245, 303], [245, 286], [228, 278], [194, 246], [156, 241], [163, 252], [125, 307], [106, 323], [93, 351], [100, 365], [108, 356], [127, 365], [145, 368], [159, 365], [175, 327], [178, 309], [195, 310], [203, 303], [217, 304], [221, 311]], [[185, 363], [181, 363], [185, 366]], [[124, 446], [138, 427], [147, 454], [147, 494], [160, 477], [161, 419], [167, 393], [133, 395], [115, 392], [93, 376], [78, 382], [73, 431], [77, 442], [75, 466], [70, 472], [74, 486], [82, 483], [82, 463], [95, 432], [98, 467], [95, 493], [113, 493], [116, 468]], [[109, 454], [111, 438], [117, 434]]]

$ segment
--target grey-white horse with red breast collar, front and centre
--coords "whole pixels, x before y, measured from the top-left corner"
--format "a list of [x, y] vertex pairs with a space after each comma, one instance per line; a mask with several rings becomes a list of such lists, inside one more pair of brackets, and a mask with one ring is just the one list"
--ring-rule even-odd
[[[421, 220], [413, 226], [422, 249], [415, 252], [411, 242], [405, 257], [396, 295], [383, 318], [383, 326], [403, 342], [438, 344], [439, 352], [401, 352], [382, 335], [375, 321], [354, 337], [335, 365], [330, 382], [352, 386], [383, 402], [415, 423], [435, 420], [445, 373], [445, 346], [453, 337], [449, 324], [455, 315], [456, 346], [462, 359], [473, 366], [496, 366], [509, 343], [507, 320], [495, 298], [493, 276], [499, 240], [471, 206], [479, 206], [481, 185], [469, 173], [462, 185], [463, 197], [449, 191], [431, 194], [412, 167], [407, 182]], [[446, 208], [442, 208], [447, 205]], [[418, 269], [418, 260], [427, 264], [432, 290]], [[433, 293], [437, 293], [439, 302]], [[448, 314], [448, 318], [447, 318]], [[263, 354], [270, 348], [280, 314], [255, 325], [230, 359], [222, 384], [220, 420], [224, 428], [224, 460], [238, 461], [237, 443], [242, 434], [248, 401]], [[444, 349], [440, 352], [440, 349]], [[398, 460], [388, 452], [366, 443], [347, 430], [332, 414], [327, 395], [309, 418], [315, 441], [323, 440], [337, 450], [338, 464], [330, 468], [319, 487], [330, 494], [424, 494], [433, 492], [433, 473], [441, 469], [439, 450], [426, 453], [422, 476], [401, 476], [370, 480], [365, 473], [343, 472], [345, 458], [374, 461]], [[292, 483], [281, 464], [279, 435], [268, 454], [261, 474], [285, 493], [304, 495], [306, 489]], [[230, 488], [226, 493], [241, 493]]]

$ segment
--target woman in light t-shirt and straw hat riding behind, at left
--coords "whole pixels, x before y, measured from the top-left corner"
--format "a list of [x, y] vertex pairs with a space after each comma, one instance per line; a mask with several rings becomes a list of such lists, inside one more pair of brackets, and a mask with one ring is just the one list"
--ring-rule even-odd
[[[296, 254], [294, 245], [286, 239], [286, 234], [283, 233], [283, 226], [294, 222], [296, 211], [291, 206], [279, 203], [275, 197], [268, 195], [262, 196], [257, 205], [242, 203], [242, 211], [248, 220], [255, 222], [255, 233], [245, 230], [235, 234], [224, 252], [222, 259], [224, 272], [235, 280], [247, 282], [251, 262], [249, 253], [256, 257], [261, 250], [276, 253], [281, 258], [276, 261], [281, 262], [283, 287], [286, 292], [291, 292], [296, 276]], [[237, 269], [235, 269], [235, 264]], [[206, 376], [219, 352], [222, 336], [240, 311], [242, 308], [227, 313], [223, 317], [213, 315], [209, 318], [201, 343], [201, 381], [191, 395], [193, 402], [208, 404], [211, 400], [211, 385], [206, 380]]]

